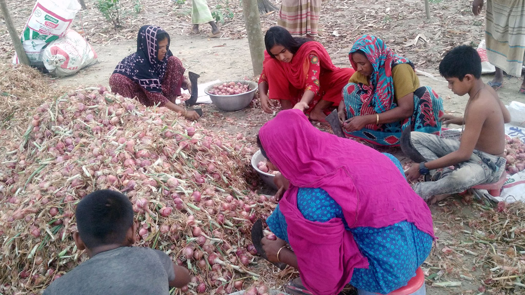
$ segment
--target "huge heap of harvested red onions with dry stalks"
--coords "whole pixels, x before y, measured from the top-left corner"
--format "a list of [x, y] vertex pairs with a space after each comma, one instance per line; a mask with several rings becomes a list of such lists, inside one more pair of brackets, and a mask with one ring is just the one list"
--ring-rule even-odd
[[138, 246], [190, 269], [192, 292], [230, 293], [259, 275], [249, 231], [275, 204], [249, 189], [244, 136], [93, 87], [41, 105], [13, 138], [0, 151], [2, 292], [39, 293], [87, 258], [71, 238], [75, 206], [103, 188], [127, 194]]

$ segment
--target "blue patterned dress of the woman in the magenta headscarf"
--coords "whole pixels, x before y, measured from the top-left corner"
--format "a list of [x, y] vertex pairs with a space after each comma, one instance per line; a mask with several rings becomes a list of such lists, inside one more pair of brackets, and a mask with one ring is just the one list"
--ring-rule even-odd
[[[341, 206], [322, 188], [299, 188], [297, 207], [308, 220], [327, 222], [341, 218], [345, 228], [352, 231], [359, 249], [369, 260], [369, 268], [354, 269], [349, 282], [358, 289], [386, 294], [405, 286], [432, 248], [432, 237], [409, 222], [382, 228], [349, 228]], [[286, 219], [279, 205], [266, 223], [277, 237], [288, 242]]]

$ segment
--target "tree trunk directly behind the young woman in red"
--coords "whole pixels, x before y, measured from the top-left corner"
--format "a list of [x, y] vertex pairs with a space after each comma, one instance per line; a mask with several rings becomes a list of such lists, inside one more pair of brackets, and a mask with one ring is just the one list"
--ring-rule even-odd
[[257, 0], [243, 0], [243, 15], [250, 47], [251, 66], [254, 68], [254, 76], [262, 72], [262, 61], [264, 60], [264, 40], [257, 9]]

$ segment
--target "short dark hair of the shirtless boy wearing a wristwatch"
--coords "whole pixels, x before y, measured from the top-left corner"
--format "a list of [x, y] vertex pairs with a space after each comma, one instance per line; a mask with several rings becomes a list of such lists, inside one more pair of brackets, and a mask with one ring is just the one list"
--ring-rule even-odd
[[439, 73], [445, 78], [458, 78], [463, 81], [467, 74], [481, 78], [481, 58], [471, 46], [461, 45], [445, 55], [439, 64]]

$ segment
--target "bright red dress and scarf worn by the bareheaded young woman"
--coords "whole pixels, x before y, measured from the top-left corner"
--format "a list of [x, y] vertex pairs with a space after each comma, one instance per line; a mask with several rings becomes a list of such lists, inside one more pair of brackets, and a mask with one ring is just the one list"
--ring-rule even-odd
[[342, 89], [353, 73], [352, 68], [334, 66], [320, 43], [308, 41], [301, 45], [290, 62], [271, 58], [265, 51], [259, 83], [268, 83], [270, 99], [290, 100], [292, 105], [301, 100], [304, 91], [311, 90], [316, 94], [308, 109], [312, 110], [321, 99], [339, 106]]

